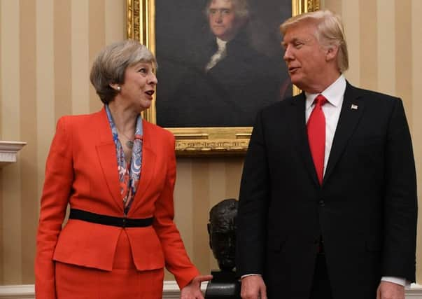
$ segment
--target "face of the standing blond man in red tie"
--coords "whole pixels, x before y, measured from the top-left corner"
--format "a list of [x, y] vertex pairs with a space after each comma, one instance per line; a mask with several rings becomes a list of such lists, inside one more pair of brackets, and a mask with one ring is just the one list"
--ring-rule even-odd
[[302, 22], [287, 29], [282, 43], [286, 50], [283, 59], [292, 83], [307, 92], [318, 92], [332, 67], [328, 64], [327, 50], [318, 43], [315, 32], [316, 25]]

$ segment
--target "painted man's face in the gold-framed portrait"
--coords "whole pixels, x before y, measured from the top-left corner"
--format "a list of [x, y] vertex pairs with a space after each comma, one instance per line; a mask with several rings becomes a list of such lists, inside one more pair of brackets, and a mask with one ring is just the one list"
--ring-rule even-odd
[[209, 27], [215, 36], [230, 41], [239, 29], [230, 0], [213, 0], [209, 6]]

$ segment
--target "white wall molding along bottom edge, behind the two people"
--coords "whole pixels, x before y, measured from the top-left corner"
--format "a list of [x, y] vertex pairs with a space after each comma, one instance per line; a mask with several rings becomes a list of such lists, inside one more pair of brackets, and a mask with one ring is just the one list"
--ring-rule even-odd
[[[180, 291], [176, 281], [164, 281], [163, 299], [178, 299]], [[202, 284], [205, 290], [206, 283]], [[344, 290], [345, 292], [347, 290]], [[0, 286], [0, 299], [35, 299], [34, 284], [20, 284], [14, 286]], [[406, 289], [406, 299], [422, 299], [422, 285], [412, 284]]]

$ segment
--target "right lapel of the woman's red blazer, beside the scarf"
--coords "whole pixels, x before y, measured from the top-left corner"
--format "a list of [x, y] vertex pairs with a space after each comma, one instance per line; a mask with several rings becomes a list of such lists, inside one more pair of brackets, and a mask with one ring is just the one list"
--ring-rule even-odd
[[133, 211], [136, 211], [136, 207], [143, 200], [146, 190], [150, 184], [151, 179], [154, 176], [155, 172], [155, 152], [153, 151], [153, 134], [151, 132], [150, 124], [143, 120], [143, 143], [142, 143], [142, 167], [141, 167], [141, 179], [138, 183], [138, 188], [136, 189], [136, 194], [134, 197], [134, 202], [132, 207], [129, 209], [129, 214]]

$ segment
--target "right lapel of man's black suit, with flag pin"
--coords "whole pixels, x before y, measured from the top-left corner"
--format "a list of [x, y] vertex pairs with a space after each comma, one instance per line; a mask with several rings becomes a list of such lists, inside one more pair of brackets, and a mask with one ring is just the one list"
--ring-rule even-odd
[[339, 161], [349, 139], [356, 129], [356, 125], [359, 123], [360, 117], [363, 114], [363, 109], [364, 101], [360, 99], [358, 91], [347, 83], [346, 91], [344, 92], [342, 111], [340, 112], [335, 136], [332, 141], [330, 158], [328, 159], [323, 182], [327, 181], [332, 174], [335, 165]]

